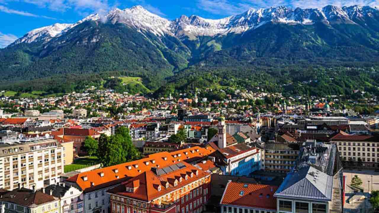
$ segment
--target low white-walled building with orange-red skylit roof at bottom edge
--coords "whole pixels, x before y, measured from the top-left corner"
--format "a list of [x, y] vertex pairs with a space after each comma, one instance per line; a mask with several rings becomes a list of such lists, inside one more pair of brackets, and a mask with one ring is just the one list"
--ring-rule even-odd
[[277, 186], [227, 183], [221, 198], [221, 213], [276, 213]]

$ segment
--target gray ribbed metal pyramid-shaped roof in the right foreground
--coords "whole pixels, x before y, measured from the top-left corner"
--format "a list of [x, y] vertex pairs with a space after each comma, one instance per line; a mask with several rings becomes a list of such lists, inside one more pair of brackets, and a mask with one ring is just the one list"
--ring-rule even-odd
[[332, 185], [333, 176], [308, 166], [288, 173], [274, 196], [331, 200]]

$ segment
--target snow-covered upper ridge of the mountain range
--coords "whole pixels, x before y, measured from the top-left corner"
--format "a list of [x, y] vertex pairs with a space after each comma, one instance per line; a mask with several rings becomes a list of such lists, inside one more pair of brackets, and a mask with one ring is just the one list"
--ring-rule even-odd
[[[375, 15], [376, 14], [376, 15]], [[325, 6], [316, 9], [291, 9], [285, 6], [249, 9], [236, 16], [229, 16], [223, 19], [204, 19], [199, 16], [181, 16], [175, 20], [167, 20], [158, 15], [152, 14], [142, 6], [133, 6], [124, 10], [113, 9], [100, 17], [99, 14], [92, 14], [77, 23], [56, 23], [47, 27], [38, 28], [25, 34], [14, 44], [21, 42], [49, 41], [66, 33], [71, 28], [86, 20], [110, 21], [111, 23], [124, 23], [129, 27], [136, 28], [140, 33], [150, 32], [156, 36], [171, 35], [177, 38], [182, 36], [216, 36], [228, 33], [244, 33], [247, 30], [256, 29], [265, 23], [287, 23], [310, 25], [316, 22], [326, 24], [347, 23], [355, 24], [354, 20], [362, 20], [377, 16], [377, 8], [370, 6]]]

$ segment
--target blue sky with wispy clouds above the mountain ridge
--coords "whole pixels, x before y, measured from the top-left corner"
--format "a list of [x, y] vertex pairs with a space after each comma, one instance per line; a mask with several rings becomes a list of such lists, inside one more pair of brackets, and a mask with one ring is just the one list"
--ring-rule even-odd
[[379, 0], [0, 0], [0, 48], [35, 28], [54, 23], [74, 23], [92, 13], [142, 5], [166, 19], [197, 14], [218, 19], [249, 8], [290, 6], [318, 8], [326, 5], [379, 5]]

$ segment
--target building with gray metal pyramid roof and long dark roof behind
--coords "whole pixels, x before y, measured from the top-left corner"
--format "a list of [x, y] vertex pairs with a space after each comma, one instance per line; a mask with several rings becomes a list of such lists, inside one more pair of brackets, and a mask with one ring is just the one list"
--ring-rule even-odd
[[274, 194], [277, 212], [342, 213], [345, 187], [337, 146], [309, 144]]

